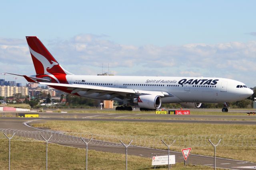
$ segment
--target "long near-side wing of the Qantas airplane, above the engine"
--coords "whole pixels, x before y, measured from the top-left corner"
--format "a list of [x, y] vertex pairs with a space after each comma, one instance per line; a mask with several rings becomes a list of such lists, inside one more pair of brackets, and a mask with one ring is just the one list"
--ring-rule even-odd
[[[85, 95], [89, 95], [92, 93], [98, 93], [98, 97], [110, 94], [114, 97], [118, 96], [126, 96], [127, 94], [136, 94], [138, 96], [143, 94], [152, 94], [156, 96], [173, 96], [167, 92], [160, 92], [160, 91], [149, 91], [149, 90], [136, 90], [136, 89], [125, 89], [125, 88], [113, 88], [113, 87], [104, 87], [104, 86], [91, 86], [91, 85], [84, 85], [84, 84], [61, 84], [61, 83], [48, 83], [48, 82], [38, 82], [39, 84], [47, 85], [52, 88], [66, 88], [66, 90], [70, 90], [71, 94], [75, 94], [80, 91], [86, 92]], [[113, 97], [113, 98], [114, 98]], [[111, 98], [110, 98], [111, 99]]]

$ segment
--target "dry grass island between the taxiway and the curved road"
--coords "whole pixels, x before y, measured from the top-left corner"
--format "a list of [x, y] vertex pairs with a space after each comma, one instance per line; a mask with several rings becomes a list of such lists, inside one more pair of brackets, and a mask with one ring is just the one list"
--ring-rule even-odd
[[[136, 137], [151, 137], [163, 135], [214, 135], [214, 134], [230, 134], [230, 135], [254, 135], [256, 125], [210, 125], [210, 124], [182, 124], [182, 123], [134, 123], [134, 122], [109, 122], [109, 121], [48, 121], [46, 123], [33, 123], [34, 127], [47, 128], [56, 131], [77, 132], [88, 134], [85, 137], [97, 137], [98, 140], [112, 141], [119, 143], [122, 137], [126, 137], [127, 141]], [[250, 130], [248, 130], [250, 129]], [[92, 135], [97, 134], [97, 135]], [[108, 136], [113, 135], [113, 136]], [[116, 137], [114, 137], [116, 136]], [[130, 136], [130, 137], [129, 137]], [[143, 140], [143, 137], [139, 138]], [[145, 138], [148, 139], [148, 138]], [[150, 138], [154, 139], [154, 138]], [[153, 148], [166, 149], [161, 140], [156, 138], [155, 141], [146, 141]], [[123, 140], [123, 139], [122, 139]], [[206, 143], [208, 139], [205, 139]], [[144, 141], [145, 142], [145, 141]], [[214, 141], [215, 143], [217, 141]], [[224, 141], [223, 141], [224, 142]], [[137, 141], [134, 141], [137, 143]], [[231, 158], [237, 160], [245, 160], [256, 162], [253, 156], [256, 151], [254, 147], [236, 147], [240, 145], [240, 141], [234, 141], [234, 147], [217, 147], [217, 156], [222, 158]], [[191, 146], [185, 146], [191, 147]], [[171, 150], [180, 152], [181, 146], [176, 146], [175, 143]], [[191, 153], [214, 156], [214, 148], [193, 147]]]

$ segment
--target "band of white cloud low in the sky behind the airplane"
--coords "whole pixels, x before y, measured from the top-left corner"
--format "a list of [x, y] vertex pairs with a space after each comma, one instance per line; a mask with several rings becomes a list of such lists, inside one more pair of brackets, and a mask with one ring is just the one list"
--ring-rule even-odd
[[[44, 44], [57, 61], [74, 74], [98, 74], [102, 72], [102, 63], [104, 70], [109, 63], [110, 70], [118, 75], [215, 76], [256, 86], [253, 73], [256, 70], [256, 41], [138, 47], [117, 44], [107, 38], [81, 34]], [[5, 43], [1, 45], [1, 42]], [[20, 40], [0, 39], [0, 59], [0, 66], [31, 64], [29, 69], [34, 72], [28, 47]]]

